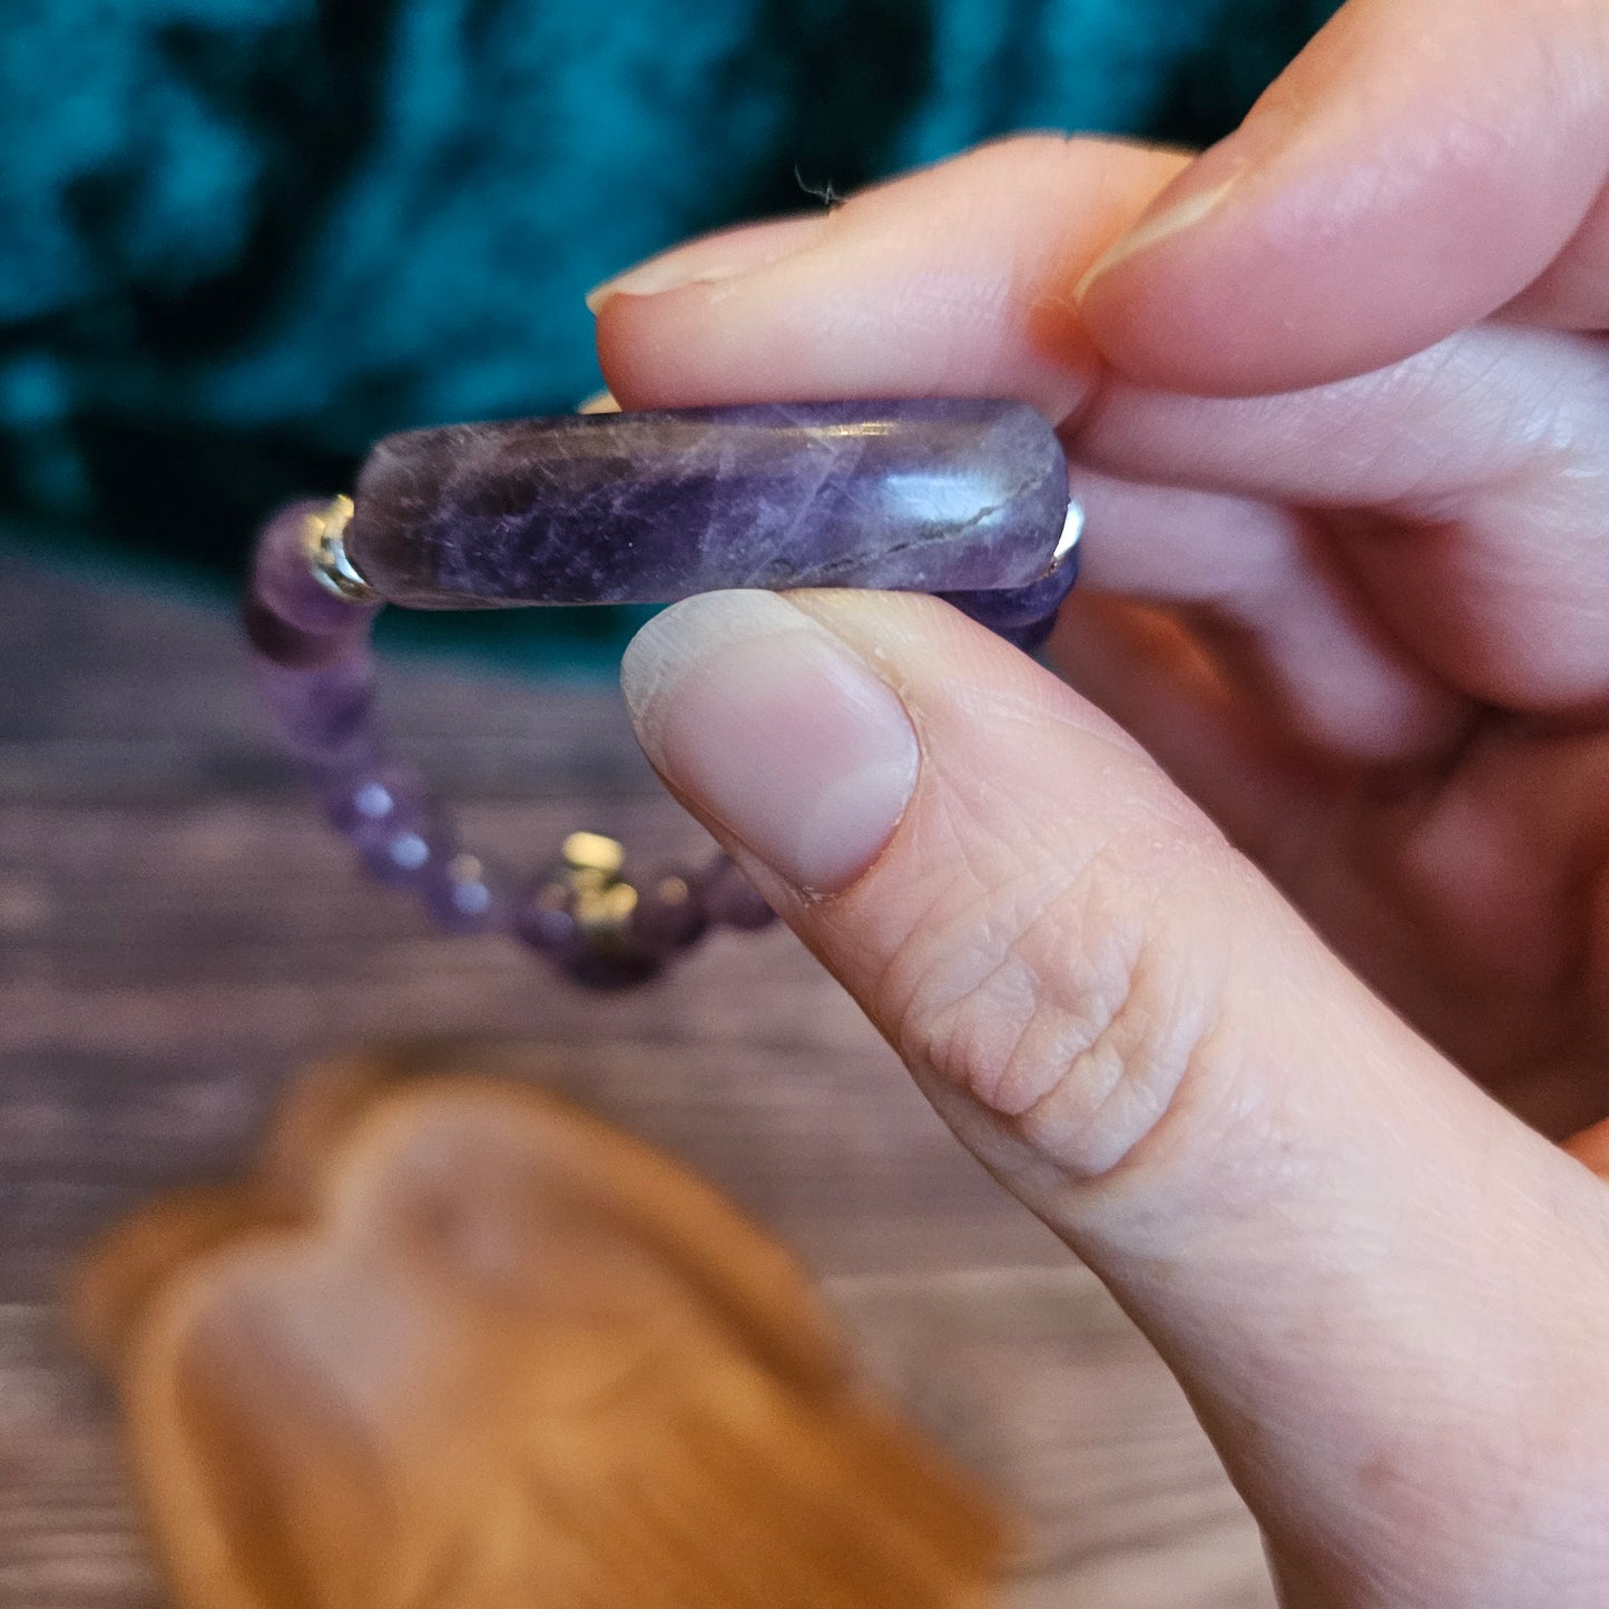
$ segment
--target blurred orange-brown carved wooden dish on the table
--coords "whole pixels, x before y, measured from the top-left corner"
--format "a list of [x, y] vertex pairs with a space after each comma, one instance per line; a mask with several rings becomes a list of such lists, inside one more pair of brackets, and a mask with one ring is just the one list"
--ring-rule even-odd
[[84, 1263], [182, 1609], [986, 1603], [1004, 1527], [798, 1268], [534, 1088], [325, 1065]]

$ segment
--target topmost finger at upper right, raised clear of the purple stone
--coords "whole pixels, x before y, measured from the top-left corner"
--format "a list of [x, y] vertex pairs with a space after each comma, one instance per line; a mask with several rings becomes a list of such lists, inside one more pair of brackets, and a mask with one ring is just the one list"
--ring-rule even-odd
[[1596, 294], [1556, 285], [1530, 312], [1601, 320], [1606, 19], [1580, 0], [1350, 0], [1084, 275], [1091, 335], [1170, 389], [1295, 389], [1487, 317], [1577, 235]]

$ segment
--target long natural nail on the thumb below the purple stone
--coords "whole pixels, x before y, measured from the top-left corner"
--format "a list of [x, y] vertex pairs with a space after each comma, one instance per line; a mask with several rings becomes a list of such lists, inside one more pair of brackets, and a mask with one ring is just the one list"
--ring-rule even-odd
[[919, 747], [904, 705], [771, 592], [710, 592], [655, 616], [621, 685], [655, 767], [800, 890], [854, 882], [911, 801]]

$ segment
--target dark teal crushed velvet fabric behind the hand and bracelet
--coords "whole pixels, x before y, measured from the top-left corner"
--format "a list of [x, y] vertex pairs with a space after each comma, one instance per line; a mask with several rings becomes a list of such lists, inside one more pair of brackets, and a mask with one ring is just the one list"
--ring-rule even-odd
[[238, 566], [383, 431], [571, 407], [634, 259], [1012, 129], [1207, 142], [1329, 10], [0, 0], [0, 516]]

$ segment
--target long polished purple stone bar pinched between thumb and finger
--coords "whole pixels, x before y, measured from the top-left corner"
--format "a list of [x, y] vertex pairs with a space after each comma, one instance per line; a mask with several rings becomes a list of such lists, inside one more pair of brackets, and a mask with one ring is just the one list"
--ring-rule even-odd
[[346, 552], [415, 608], [716, 587], [1022, 587], [1067, 515], [1022, 402], [800, 402], [451, 425], [381, 441]]

